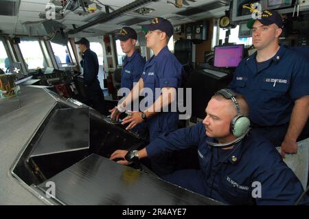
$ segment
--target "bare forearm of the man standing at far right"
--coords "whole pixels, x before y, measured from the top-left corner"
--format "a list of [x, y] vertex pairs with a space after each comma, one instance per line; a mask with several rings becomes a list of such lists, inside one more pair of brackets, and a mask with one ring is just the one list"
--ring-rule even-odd
[[306, 125], [309, 115], [309, 95], [299, 98], [295, 101], [290, 124], [286, 132], [285, 140], [297, 141], [304, 126]]

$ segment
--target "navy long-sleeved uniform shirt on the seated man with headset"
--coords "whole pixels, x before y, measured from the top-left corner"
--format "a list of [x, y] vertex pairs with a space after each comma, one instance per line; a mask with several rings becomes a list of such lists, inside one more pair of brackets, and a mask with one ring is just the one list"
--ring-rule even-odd
[[[301, 183], [269, 141], [253, 131], [231, 153], [235, 148], [222, 150], [208, 146], [206, 141], [214, 139], [207, 137], [205, 131], [205, 126], [200, 122], [169, 135], [160, 135], [146, 146], [148, 157], [198, 146], [201, 170], [194, 170], [194, 177], [178, 174], [172, 183], [187, 181], [181, 186], [196, 185], [198, 188], [192, 190], [223, 203], [293, 205], [299, 198], [303, 192]], [[194, 180], [199, 182], [192, 182]], [[254, 182], [260, 182], [261, 198], [253, 198], [251, 194], [256, 187]], [[309, 203], [308, 196], [302, 199], [301, 204], [304, 203]]]

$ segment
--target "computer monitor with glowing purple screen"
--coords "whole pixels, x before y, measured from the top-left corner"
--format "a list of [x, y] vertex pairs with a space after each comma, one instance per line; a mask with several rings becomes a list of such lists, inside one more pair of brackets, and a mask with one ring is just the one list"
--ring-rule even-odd
[[244, 45], [216, 46], [214, 48], [215, 67], [237, 67], [244, 54]]

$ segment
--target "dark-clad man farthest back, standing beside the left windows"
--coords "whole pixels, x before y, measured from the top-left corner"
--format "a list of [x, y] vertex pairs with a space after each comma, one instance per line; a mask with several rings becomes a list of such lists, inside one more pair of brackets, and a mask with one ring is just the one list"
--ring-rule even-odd
[[104, 95], [98, 80], [99, 61], [98, 56], [90, 49], [90, 43], [87, 38], [81, 38], [78, 44], [80, 52], [82, 53], [82, 60], [80, 65], [83, 69], [84, 87], [87, 93], [87, 104], [97, 110], [98, 112], [107, 115], [106, 107], [104, 105]]

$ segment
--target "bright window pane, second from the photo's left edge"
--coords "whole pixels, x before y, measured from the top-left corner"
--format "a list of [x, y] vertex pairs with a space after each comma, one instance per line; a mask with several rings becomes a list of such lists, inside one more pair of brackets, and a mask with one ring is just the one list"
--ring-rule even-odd
[[26, 62], [28, 69], [47, 67], [41, 47], [36, 40], [21, 40], [19, 43], [21, 54]]

